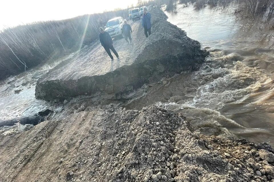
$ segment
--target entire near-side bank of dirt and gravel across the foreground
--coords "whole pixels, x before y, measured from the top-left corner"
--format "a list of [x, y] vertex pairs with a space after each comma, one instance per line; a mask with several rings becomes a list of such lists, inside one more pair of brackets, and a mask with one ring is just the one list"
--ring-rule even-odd
[[83, 111], [0, 136], [1, 181], [274, 181], [267, 144], [205, 136], [181, 114]]

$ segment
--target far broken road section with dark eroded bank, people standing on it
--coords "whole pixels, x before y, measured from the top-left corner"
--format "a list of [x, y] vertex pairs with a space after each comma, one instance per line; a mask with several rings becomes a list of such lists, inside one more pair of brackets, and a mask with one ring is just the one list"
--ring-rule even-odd
[[[163, 77], [198, 69], [209, 53], [186, 32], [167, 22], [163, 11], [151, 7], [152, 34], [144, 36], [141, 21], [131, 23], [133, 44], [115, 40], [120, 60], [111, 62], [97, 42], [37, 81], [35, 96], [46, 101], [63, 101], [79, 95], [109, 99], [126, 98], [129, 93]], [[115, 68], [114, 68], [115, 64]], [[109, 68], [109, 69], [108, 69]]]

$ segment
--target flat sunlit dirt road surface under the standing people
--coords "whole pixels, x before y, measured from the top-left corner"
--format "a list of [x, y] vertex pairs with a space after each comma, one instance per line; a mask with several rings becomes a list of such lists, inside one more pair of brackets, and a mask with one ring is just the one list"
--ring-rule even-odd
[[[92, 46], [87, 46], [83, 48], [79, 54], [76, 54], [72, 59], [60, 64], [54, 68], [56, 74], [49, 75], [46, 79], [79, 79], [84, 76], [102, 75], [104, 73], [113, 71], [124, 65], [132, 64], [134, 58], [136, 57], [136, 52], [138, 52], [138, 47], [140, 43], [145, 41], [145, 34], [143, 33], [143, 28], [141, 20], [129, 21], [132, 26], [132, 44], [127, 45], [124, 38], [114, 38], [113, 46], [118, 52], [120, 59], [116, 59], [114, 56], [114, 61], [110, 60], [110, 57], [101, 46], [100, 41], [92, 43]], [[60, 74], [62, 73], [62, 74]]]

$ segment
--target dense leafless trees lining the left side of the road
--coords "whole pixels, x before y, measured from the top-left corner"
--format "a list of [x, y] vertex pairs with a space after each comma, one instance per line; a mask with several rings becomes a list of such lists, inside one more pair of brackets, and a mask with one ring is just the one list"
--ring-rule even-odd
[[98, 38], [98, 28], [127, 10], [35, 22], [0, 33], [0, 79], [78, 50]]

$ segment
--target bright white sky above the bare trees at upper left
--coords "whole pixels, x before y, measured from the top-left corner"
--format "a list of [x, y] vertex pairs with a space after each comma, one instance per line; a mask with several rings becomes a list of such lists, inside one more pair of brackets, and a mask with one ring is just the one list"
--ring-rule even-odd
[[2, 0], [0, 30], [35, 21], [62, 20], [104, 10], [127, 8], [137, 0]]

